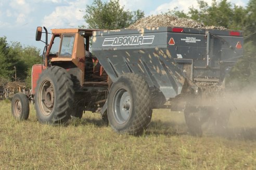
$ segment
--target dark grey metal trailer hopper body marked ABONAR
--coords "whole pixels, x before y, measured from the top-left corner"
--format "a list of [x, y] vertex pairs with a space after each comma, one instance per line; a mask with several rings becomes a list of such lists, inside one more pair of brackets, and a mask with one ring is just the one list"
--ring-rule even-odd
[[[113, 82], [125, 73], [143, 76], [165, 100], [185, 84], [219, 82], [242, 56], [241, 31], [155, 27], [96, 31], [93, 53]], [[187, 86], [186, 86], [187, 87]]]

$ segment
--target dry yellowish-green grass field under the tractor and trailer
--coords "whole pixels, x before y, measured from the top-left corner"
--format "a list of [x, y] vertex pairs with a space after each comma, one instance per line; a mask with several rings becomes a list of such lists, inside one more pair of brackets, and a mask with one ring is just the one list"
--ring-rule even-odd
[[135, 137], [114, 133], [90, 112], [68, 126], [40, 124], [30, 107], [29, 120], [18, 122], [10, 102], [0, 101], [0, 169], [256, 169], [255, 123], [193, 137], [182, 113], [162, 109]]

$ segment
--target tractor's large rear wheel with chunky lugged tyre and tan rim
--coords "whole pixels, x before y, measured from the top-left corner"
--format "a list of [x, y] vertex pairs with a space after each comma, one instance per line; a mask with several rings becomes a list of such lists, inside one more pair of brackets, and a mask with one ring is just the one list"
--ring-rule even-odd
[[52, 66], [44, 70], [37, 81], [36, 115], [40, 123], [64, 124], [71, 118], [74, 90], [67, 70]]

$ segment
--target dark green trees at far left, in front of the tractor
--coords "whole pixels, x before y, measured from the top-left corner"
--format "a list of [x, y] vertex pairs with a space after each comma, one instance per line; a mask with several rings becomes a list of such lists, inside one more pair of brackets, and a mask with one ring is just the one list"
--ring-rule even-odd
[[0, 37], [1, 79], [25, 81], [30, 87], [31, 68], [37, 63], [41, 63], [39, 49], [31, 46], [22, 47], [18, 42], [9, 45], [6, 37]]

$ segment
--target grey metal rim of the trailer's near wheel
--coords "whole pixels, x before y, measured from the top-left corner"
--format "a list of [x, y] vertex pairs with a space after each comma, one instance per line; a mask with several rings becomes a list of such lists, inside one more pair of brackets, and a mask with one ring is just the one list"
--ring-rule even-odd
[[119, 124], [125, 123], [131, 112], [131, 96], [125, 89], [118, 89], [113, 97], [113, 115]]

